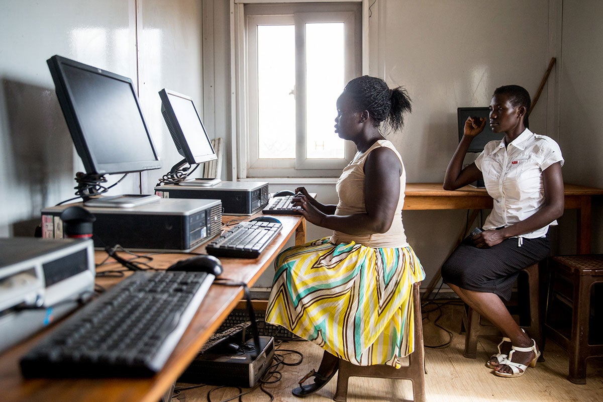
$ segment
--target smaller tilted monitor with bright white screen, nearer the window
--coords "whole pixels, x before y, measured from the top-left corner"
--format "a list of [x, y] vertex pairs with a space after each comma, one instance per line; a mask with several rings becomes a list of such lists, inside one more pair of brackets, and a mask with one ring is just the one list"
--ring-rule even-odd
[[[218, 159], [192, 98], [165, 88], [159, 91], [159, 97], [165, 124], [178, 153], [185, 158], [172, 168], [171, 174], [175, 174], [186, 164], [192, 166]], [[186, 176], [178, 175], [182, 180], [175, 181], [185, 184]], [[212, 178], [192, 181], [196, 185], [202, 185], [201, 181], [205, 184], [215, 184], [219, 180]]]

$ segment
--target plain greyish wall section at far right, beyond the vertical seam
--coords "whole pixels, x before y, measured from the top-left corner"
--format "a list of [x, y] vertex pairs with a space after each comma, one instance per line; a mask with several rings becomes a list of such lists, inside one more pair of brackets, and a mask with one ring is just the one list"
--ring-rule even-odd
[[[570, 183], [603, 188], [603, 2], [565, 1], [560, 74], [560, 146]], [[567, 213], [561, 224], [575, 222]], [[593, 205], [593, 253], [603, 253], [603, 197]], [[564, 243], [572, 244], [572, 233]], [[572, 250], [564, 250], [571, 253]]]

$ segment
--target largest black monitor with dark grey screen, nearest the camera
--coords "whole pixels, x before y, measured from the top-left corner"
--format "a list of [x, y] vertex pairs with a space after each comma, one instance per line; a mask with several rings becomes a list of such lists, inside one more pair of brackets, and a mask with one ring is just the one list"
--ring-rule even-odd
[[[46, 62], [87, 178], [162, 167], [130, 78], [58, 55]], [[84, 201], [102, 192], [88, 190]]]

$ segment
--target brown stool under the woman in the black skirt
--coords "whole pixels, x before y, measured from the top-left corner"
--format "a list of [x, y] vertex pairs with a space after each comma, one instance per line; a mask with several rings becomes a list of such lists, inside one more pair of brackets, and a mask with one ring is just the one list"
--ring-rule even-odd
[[[527, 275], [527, 289], [522, 289], [520, 277]], [[519, 272], [517, 304], [505, 303], [510, 310], [522, 309], [529, 306], [528, 314], [520, 314], [519, 326], [525, 330], [530, 338], [533, 338], [541, 351], [538, 361], [544, 361], [542, 352], [545, 350], [545, 339], [542, 332], [541, 310], [540, 310], [540, 279], [538, 275], [538, 264], [530, 265]], [[525, 303], [525, 296], [529, 303]], [[513, 312], [512, 312], [513, 313]], [[529, 323], [522, 322], [521, 316], [529, 316]], [[466, 307], [466, 315], [463, 316], [463, 325], [466, 328], [465, 351], [463, 356], [475, 359], [478, 350], [479, 336], [501, 335], [500, 330], [490, 323], [482, 323], [482, 316], [471, 307]]]

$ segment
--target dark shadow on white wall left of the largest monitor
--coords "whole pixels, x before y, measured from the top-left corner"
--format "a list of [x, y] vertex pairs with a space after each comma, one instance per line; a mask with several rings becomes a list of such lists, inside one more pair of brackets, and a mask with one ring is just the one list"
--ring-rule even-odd
[[[33, 219], [74, 187], [73, 142], [54, 89], [4, 78], [2, 90], [8, 130], [4, 136], [10, 152], [4, 155], [8, 169], [2, 174], [16, 193], [25, 195], [27, 199], [19, 203]], [[21, 222], [13, 225], [22, 231]]]

